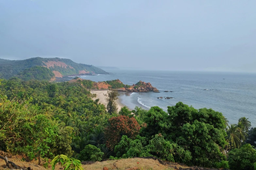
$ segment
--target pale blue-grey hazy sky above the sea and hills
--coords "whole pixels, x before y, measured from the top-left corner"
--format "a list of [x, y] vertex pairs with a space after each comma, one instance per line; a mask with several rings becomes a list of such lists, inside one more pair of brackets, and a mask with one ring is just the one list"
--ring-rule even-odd
[[255, 0], [0, 0], [0, 58], [256, 72]]

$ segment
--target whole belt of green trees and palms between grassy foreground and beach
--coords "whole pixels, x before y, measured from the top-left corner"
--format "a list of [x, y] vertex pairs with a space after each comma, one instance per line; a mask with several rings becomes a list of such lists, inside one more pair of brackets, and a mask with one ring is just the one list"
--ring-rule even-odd
[[154, 106], [123, 107], [117, 113], [93, 97], [80, 82], [0, 81], [0, 149], [45, 167], [54, 158], [52, 165], [60, 162], [66, 169], [81, 169], [78, 160], [144, 156], [256, 169], [256, 151], [250, 145], [256, 130], [246, 118], [228, 125], [222, 113], [182, 102], [168, 106], [167, 112]]

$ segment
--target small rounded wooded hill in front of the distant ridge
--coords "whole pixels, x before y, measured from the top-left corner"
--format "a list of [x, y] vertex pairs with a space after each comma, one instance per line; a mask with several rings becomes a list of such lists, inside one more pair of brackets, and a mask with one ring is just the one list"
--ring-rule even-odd
[[34, 66], [20, 72], [17, 75], [17, 77], [25, 81], [28, 81], [31, 79], [49, 81], [51, 78], [54, 77], [54, 73], [49, 68]]

